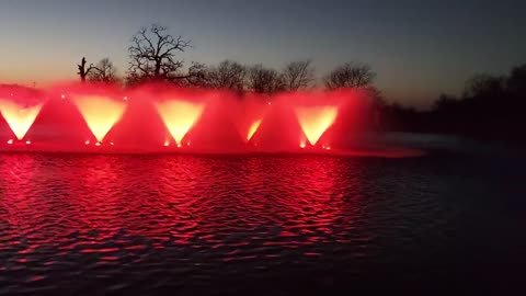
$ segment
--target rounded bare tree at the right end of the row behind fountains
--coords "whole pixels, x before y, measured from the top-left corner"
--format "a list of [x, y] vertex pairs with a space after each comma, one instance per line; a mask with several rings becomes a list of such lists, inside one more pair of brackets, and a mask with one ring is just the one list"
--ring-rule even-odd
[[376, 73], [370, 66], [361, 62], [345, 62], [330, 72], [325, 79], [325, 87], [330, 90], [339, 88], [365, 88], [373, 83]]

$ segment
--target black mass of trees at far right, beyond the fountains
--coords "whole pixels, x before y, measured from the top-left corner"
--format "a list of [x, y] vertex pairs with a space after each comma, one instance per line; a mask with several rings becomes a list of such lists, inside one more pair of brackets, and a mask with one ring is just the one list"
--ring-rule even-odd
[[381, 106], [385, 130], [444, 133], [526, 144], [526, 64], [507, 76], [477, 75], [456, 98], [442, 94], [430, 111]]

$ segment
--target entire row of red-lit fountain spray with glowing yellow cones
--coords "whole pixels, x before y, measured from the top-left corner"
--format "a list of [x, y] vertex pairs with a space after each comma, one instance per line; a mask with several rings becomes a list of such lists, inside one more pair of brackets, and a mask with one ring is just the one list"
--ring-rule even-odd
[[[355, 92], [345, 91], [241, 96], [157, 86], [61, 86], [38, 92], [41, 101], [33, 92], [12, 92], [0, 89], [9, 127], [0, 126], [0, 145], [8, 151], [21, 143], [24, 151], [350, 155], [355, 148], [342, 144], [348, 136], [342, 118], [363, 113], [346, 103], [358, 98]], [[16, 139], [7, 135], [11, 130]]]

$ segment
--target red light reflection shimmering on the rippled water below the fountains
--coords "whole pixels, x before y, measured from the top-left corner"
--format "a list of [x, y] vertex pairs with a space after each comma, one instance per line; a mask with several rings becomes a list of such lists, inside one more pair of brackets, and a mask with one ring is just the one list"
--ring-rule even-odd
[[[345, 241], [361, 216], [362, 180], [339, 158], [244, 159], [2, 156], [0, 219], [24, 237], [19, 259], [55, 246], [115, 261], [149, 246], [187, 246], [248, 260], [263, 248]], [[9, 172], [9, 173], [8, 173]], [[147, 242], [145, 242], [145, 239]]]

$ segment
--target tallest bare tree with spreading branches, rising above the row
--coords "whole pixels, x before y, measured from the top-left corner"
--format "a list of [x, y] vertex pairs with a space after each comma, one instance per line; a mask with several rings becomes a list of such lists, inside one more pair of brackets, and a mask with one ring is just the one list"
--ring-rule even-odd
[[180, 75], [184, 62], [176, 59], [175, 54], [184, 52], [190, 44], [190, 41], [181, 36], [168, 34], [165, 26], [152, 24], [149, 29], [142, 27], [132, 37], [132, 46], [128, 48], [128, 81], [174, 81], [187, 78], [188, 76]]

